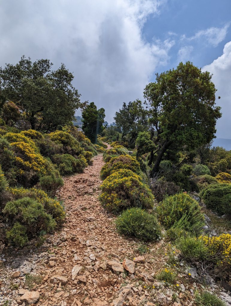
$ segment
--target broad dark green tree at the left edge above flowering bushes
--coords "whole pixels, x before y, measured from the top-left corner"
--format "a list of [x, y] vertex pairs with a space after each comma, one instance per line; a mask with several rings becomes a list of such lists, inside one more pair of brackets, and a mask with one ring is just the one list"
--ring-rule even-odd
[[48, 59], [32, 62], [25, 56], [16, 64], [0, 68], [0, 105], [18, 102], [25, 110], [32, 129], [54, 130], [74, 118], [82, 106], [72, 86], [74, 78], [64, 64], [52, 71]]

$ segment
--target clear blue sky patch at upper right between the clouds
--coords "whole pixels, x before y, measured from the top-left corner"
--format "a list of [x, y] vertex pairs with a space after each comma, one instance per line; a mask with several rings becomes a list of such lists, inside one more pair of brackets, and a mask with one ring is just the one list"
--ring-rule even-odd
[[[223, 28], [231, 21], [230, 0], [171, 0], [166, 1], [160, 8], [160, 14], [150, 15], [142, 29], [142, 35], [148, 42], [153, 39], [174, 39], [175, 45], [171, 48], [170, 60], [167, 65], [158, 67], [158, 72], [175, 67], [178, 63], [178, 51], [181, 47], [191, 46], [193, 49], [188, 60], [195, 65], [203, 67], [222, 54], [224, 44], [231, 41], [231, 27], [227, 29], [225, 39], [217, 46], [208, 44], [207, 41], [194, 39], [181, 40], [183, 35], [192, 37], [202, 30], [212, 27]], [[170, 32], [174, 34], [170, 35]]]

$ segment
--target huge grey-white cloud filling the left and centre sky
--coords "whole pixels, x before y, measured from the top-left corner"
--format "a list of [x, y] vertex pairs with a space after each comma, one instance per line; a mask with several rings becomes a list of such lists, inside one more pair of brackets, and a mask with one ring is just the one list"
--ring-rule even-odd
[[142, 99], [173, 41], [148, 43], [142, 27], [165, 0], [40, 0], [0, 4], [0, 65], [49, 58], [74, 72], [82, 100], [94, 101], [113, 120], [123, 101]]

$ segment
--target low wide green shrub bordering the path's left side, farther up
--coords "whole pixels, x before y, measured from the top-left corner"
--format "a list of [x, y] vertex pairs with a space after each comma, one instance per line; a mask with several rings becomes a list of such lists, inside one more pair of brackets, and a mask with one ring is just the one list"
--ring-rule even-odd
[[52, 157], [52, 161], [58, 165], [58, 169], [62, 175], [81, 173], [87, 166], [86, 159], [76, 159], [70, 154], [56, 154]]

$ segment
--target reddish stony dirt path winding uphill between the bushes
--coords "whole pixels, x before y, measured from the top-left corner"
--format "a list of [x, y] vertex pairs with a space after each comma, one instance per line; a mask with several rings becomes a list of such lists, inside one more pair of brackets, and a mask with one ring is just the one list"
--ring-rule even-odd
[[[135, 274], [122, 273], [122, 261], [137, 258], [140, 244], [116, 232], [114, 216], [98, 200], [103, 164], [102, 154], [97, 155], [84, 173], [64, 179], [57, 193], [67, 211], [61, 232], [50, 236], [40, 249], [28, 246], [12, 252], [12, 258], [16, 258], [13, 263], [9, 258], [1, 283], [4, 300], [13, 300], [11, 305], [21, 303], [20, 288], [39, 292], [36, 305], [40, 306], [119, 306], [125, 299], [135, 306], [149, 300], [151, 290], [147, 291], [141, 280], [153, 283], [153, 273], [163, 267], [164, 241], [150, 244], [151, 252], [136, 263]], [[12, 279], [9, 275], [15, 271], [20, 271], [20, 277]], [[32, 275], [32, 285], [26, 281], [26, 273]], [[14, 289], [10, 289], [12, 283], [17, 284]]]

